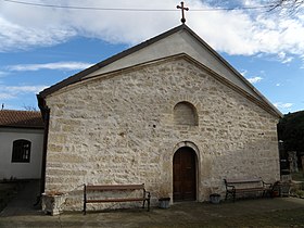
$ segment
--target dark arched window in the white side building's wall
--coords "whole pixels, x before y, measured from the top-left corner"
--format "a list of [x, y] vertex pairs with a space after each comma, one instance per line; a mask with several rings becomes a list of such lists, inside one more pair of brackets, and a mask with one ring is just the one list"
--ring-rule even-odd
[[12, 162], [29, 163], [30, 141], [18, 139], [13, 142]]

